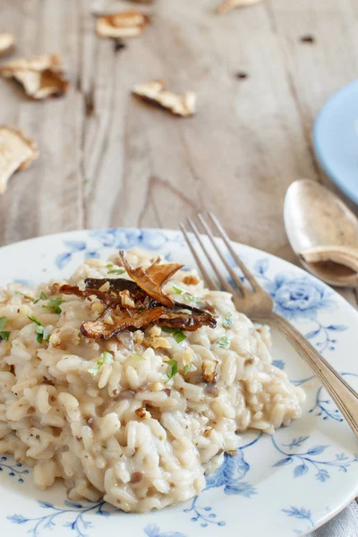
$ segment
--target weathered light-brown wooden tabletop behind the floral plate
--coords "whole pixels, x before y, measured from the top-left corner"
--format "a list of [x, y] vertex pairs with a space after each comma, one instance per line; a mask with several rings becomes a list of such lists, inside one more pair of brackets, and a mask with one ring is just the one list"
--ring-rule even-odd
[[[72, 77], [65, 98], [43, 103], [0, 81], [1, 123], [41, 149], [0, 198], [0, 243], [81, 227], [177, 227], [208, 208], [234, 240], [294, 260], [283, 201], [295, 179], [326, 181], [311, 125], [356, 76], [357, 4], [264, 0], [217, 16], [217, 0], [157, 0], [143, 36], [115, 50], [96, 36], [93, 12], [129, 5], [0, 0], [0, 31], [13, 31], [17, 55], [58, 51]], [[307, 34], [314, 43], [300, 40]], [[156, 78], [197, 91], [198, 114], [174, 117], [132, 97], [134, 83]]]

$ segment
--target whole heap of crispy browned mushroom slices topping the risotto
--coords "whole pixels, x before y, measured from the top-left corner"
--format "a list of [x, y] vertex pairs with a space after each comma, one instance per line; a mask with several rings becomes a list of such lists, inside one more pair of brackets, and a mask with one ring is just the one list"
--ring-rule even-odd
[[[85, 288], [55, 284], [52, 293], [74, 294], [93, 301], [96, 296], [99, 303], [93, 306], [106, 306], [97, 320], [86, 320], [81, 324], [81, 334], [94, 339], [110, 339], [129, 330], [144, 330], [149, 325], [173, 329], [197, 330], [202, 326], [215, 328], [217, 321], [209, 313], [187, 304], [174, 302], [163, 292], [163, 286], [169, 277], [183, 267], [180, 263], [160, 264], [154, 261], [149, 267], [132, 268], [125, 258], [124, 251], [119, 251], [120, 260], [132, 280], [126, 278], [87, 278]], [[96, 308], [96, 311], [99, 311]], [[160, 333], [160, 329], [157, 328]], [[170, 331], [170, 330], [169, 330]], [[166, 343], [162, 338], [160, 346]]]

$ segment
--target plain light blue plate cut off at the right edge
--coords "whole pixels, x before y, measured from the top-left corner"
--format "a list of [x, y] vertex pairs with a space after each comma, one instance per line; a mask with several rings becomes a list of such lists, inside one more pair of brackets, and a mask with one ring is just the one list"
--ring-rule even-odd
[[339, 90], [320, 110], [313, 145], [326, 174], [358, 204], [358, 81]]

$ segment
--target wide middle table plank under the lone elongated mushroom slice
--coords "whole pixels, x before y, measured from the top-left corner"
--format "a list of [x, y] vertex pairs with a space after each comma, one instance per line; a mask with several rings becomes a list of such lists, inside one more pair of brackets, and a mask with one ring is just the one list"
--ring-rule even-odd
[[[90, 53], [87, 224], [176, 227], [210, 208], [234, 239], [290, 257], [282, 226], [286, 188], [315, 170], [280, 41], [263, 6], [217, 17], [214, 5], [158, 3], [140, 39], [117, 55], [103, 42]], [[239, 70], [249, 72], [246, 81], [235, 78]], [[155, 78], [179, 92], [198, 91], [196, 117], [175, 118], [130, 97], [134, 83]]]

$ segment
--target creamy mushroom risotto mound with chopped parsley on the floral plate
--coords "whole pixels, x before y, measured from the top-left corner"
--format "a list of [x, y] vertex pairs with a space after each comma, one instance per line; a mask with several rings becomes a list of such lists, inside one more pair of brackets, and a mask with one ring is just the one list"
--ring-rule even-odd
[[[126, 259], [149, 265], [143, 251]], [[209, 312], [216, 326], [162, 321], [86, 337], [84, 321], [101, 315], [113, 328], [100, 296], [109, 285], [87, 296], [60, 286], [118, 277], [131, 279], [115, 257], [92, 259], [56, 293], [54, 282], [0, 290], [0, 453], [33, 466], [41, 489], [60, 478], [69, 499], [145, 512], [198, 495], [241, 433], [272, 434], [299, 418], [304, 394], [272, 365], [268, 328], [253, 326], [195, 271], [175, 272], [163, 293], [188, 317], [191, 307]], [[130, 308], [131, 295], [124, 300]]]

